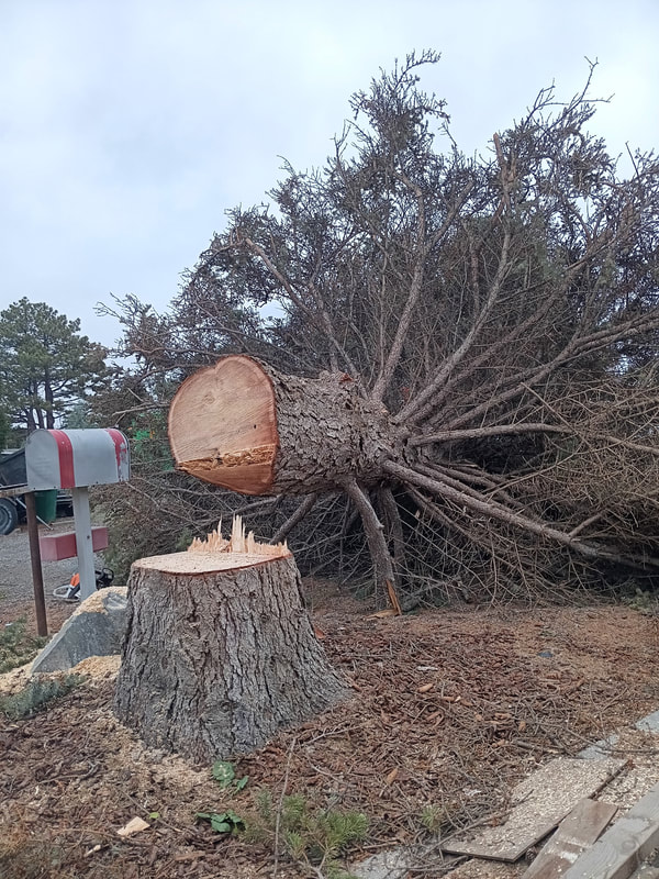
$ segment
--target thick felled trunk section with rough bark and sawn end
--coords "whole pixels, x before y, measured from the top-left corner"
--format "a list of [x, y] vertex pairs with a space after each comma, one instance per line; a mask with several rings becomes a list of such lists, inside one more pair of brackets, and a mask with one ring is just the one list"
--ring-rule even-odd
[[376, 481], [398, 457], [389, 412], [345, 374], [284, 376], [243, 355], [200, 369], [169, 409], [179, 469], [242, 494], [309, 494]]

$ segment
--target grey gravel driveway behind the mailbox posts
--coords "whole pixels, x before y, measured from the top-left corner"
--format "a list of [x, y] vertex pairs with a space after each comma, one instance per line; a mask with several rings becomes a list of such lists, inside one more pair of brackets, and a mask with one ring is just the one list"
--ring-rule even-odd
[[[74, 530], [72, 519], [58, 519], [51, 528], [40, 525], [38, 533], [41, 536]], [[98, 565], [103, 565], [102, 554], [97, 554], [96, 561]], [[53, 589], [68, 583], [77, 567], [76, 557], [42, 563], [46, 610], [48, 607], [60, 607], [64, 603], [53, 598]], [[24, 615], [25, 609], [30, 608], [33, 601], [30, 539], [27, 527], [21, 525], [11, 534], [0, 535], [0, 623], [13, 622], [18, 616]], [[66, 604], [65, 607], [70, 608]]]

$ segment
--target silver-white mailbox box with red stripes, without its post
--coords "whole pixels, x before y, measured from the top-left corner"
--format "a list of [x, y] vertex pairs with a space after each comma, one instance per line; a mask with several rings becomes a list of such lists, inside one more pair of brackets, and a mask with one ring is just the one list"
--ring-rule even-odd
[[35, 431], [25, 467], [32, 491], [123, 482], [131, 476], [129, 441], [113, 427]]

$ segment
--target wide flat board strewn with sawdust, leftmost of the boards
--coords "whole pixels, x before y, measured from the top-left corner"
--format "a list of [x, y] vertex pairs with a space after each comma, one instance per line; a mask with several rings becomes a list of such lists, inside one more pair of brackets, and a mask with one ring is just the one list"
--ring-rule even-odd
[[579, 800], [596, 793], [616, 776], [624, 760], [559, 757], [540, 767], [513, 790], [504, 824], [487, 827], [442, 846], [451, 855], [514, 861], [547, 836]]

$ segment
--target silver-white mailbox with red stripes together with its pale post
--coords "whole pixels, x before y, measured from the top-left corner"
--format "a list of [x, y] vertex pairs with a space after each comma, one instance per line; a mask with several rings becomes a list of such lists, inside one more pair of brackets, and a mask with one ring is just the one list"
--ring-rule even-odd
[[71, 491], [80, 598], [88, 598], [96, 591], [88, 489], [130, 478], [129, 441], [113, 427], [35, 431], [25, 443], [25, 466], [30, 491]]

